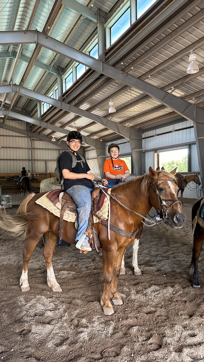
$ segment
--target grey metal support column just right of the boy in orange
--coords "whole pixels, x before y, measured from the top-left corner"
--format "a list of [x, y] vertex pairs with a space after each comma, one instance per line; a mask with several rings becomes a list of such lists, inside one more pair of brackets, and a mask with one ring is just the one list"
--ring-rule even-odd
[[130, 129], [130, 147], [132, 152], [132, 161], [134, 165], [134, 173], [136, 176], [142, 174], [142, 133], [132, 133]]

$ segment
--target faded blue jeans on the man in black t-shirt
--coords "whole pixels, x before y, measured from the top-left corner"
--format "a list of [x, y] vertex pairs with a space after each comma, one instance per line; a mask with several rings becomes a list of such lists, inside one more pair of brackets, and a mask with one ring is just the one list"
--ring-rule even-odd
[[[93, 190], [94, 187], [89, 189], [88, 187], [81, 185], [75, 185], [66, 190], [77, 205], [79, 227], [76, 235], [76, 241], [80, 239], [87, 229], [91, 210], [91, 192]], [[87, 236], [85, 239], [88, 239]]]

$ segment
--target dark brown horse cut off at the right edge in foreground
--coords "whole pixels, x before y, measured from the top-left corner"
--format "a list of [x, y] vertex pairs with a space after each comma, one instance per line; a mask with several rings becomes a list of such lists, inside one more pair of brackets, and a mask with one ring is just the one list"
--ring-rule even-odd
[[[192, 207], [192, 226], [193, 226], [193, 229], [194, 228], [195, 229], [194, 229], [194, 233], [193, 233], [193, 250], [192, 250], [192, 259], [191, 259], [190, 266], [192, 266], [194, 268], [193, 287], [197, 287], [197, 288], [200, 288], [197, 263], [199, 260], [200, 252], [203, 248], [204, 228], [197, 222], [197, 219], [195, 219], [195, 217], [197, 215], [197, 211], [200, 207], [201, 201], [202, 201], [202, 199], [196, 201], [196, 203]], [[194, 219], [195, 219], [195, 221], [194, 221]], [[195, 225], [193, 225], [193, 222], [195, 223]]]

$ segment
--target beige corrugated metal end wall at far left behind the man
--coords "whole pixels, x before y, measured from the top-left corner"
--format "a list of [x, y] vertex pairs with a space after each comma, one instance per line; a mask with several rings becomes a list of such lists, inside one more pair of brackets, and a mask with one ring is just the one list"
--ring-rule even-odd
[[[7, 121], [7, 125], [26, 130], [26, 123]], [[31, 145], [32, 142], [32, 145]], [[63, 149], [54, 143], [0, 128], [0, 173], [17, 173], [22, 167], [33, 172], [54, 172]], [[33, 153], [33, 168], [32, 168]]]

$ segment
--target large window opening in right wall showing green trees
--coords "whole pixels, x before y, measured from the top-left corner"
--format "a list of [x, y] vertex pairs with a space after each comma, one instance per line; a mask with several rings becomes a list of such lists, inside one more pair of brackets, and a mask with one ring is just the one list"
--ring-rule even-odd
[[188, 148], [174, 151], [155, 153], [155, 168], [163, 166], [165, 171], [170, 172], [178, 167], [177, 172], [188, 172]]

